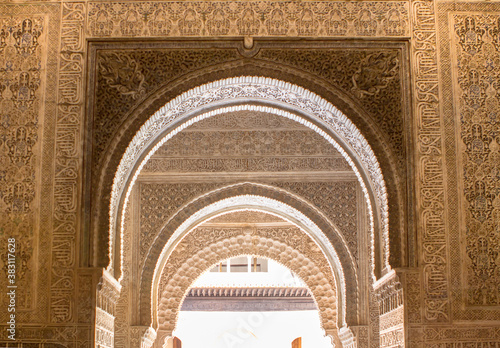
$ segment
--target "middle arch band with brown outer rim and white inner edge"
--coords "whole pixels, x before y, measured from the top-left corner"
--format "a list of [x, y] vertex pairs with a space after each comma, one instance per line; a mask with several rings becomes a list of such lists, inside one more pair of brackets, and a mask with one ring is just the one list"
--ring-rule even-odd
[[336, 282], [338, 326], [357, 324], [359, 280], [353, 256], [341, 233], [321, 212], [299, 197], [268, 185], [242, 183], [211, 191], [195, 199], [163, 226], [148, 251], [141, 273], [140, 313], [143, 325], [157, 320], [155, 306], [160, 275], [177, 244], [207, 219], [238, 209], [264, 211], [279, 216], [296, 225], [316, 243]]

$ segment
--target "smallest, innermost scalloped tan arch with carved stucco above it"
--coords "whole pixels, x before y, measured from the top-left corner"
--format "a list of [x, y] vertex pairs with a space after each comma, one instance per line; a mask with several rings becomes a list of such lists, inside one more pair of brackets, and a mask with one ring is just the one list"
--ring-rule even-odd
[[273, 233], [265, 229], [232, 229], [206, 234], [196, 229], [181, 241], [162, 272], [158, 291], [158, 329], [171, 335], [187, 290], [221, 260], [251, 254], [273, 259], [294, 271], [309, 287], [322, 328], [338, 342], [337, 290], [332, 270], [317, 244], [296, 228]]

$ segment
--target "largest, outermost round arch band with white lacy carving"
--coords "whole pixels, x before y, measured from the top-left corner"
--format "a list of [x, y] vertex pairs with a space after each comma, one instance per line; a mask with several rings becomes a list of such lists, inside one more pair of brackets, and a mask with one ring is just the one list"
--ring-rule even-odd
[[[380, 259], [389, 270], [388, 204], [379, 164], [368, 142], [349, 119], [333, 105], [301, 87], [283, 81], [239, 77], [217, 81], [190, 90], [153, 115], [127, 148], [113, 182], [110, 203], [110, 271], [121, 262], [119, 244], [123, 216], [130, 190], [150, 156], [173, 135], [201, 119], [221, 112], [254, 108], [296, 120], [323, 136], [342, 153], [356, 173], [365, 193], [371, 221], [372, 254], [375, 238]], [[377, 233], [381, 231], [380, 237]], [[118, 248], [116, 245], [118, 244]], [[372, 270], [372, 273], [373, 270]]]

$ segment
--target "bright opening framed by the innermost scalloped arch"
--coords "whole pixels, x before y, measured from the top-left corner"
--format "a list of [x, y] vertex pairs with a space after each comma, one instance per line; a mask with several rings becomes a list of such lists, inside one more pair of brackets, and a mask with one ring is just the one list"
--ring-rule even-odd
[[183, 348], [332, 348], [306, 284], [279, 263], [241, 255], [203, 274], [184, 299], [175, 337]]

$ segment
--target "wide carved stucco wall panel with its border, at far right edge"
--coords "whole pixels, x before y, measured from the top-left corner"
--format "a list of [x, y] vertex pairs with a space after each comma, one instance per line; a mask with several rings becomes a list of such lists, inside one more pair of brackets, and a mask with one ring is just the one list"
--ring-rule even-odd
[[[499, 320], [498, 20], [495, 4], [440, 4], [450, 286], [455, 320]], [[479, 74], [479, 75], [478, 75]], [[484, 184], [484, 185], [483, 185]], [[494, 202], [494, 203], [492, 203]], [[488, 276], [487, 276], [488, 274]], [[493, 337], [493, 336], [492, 336]]]

